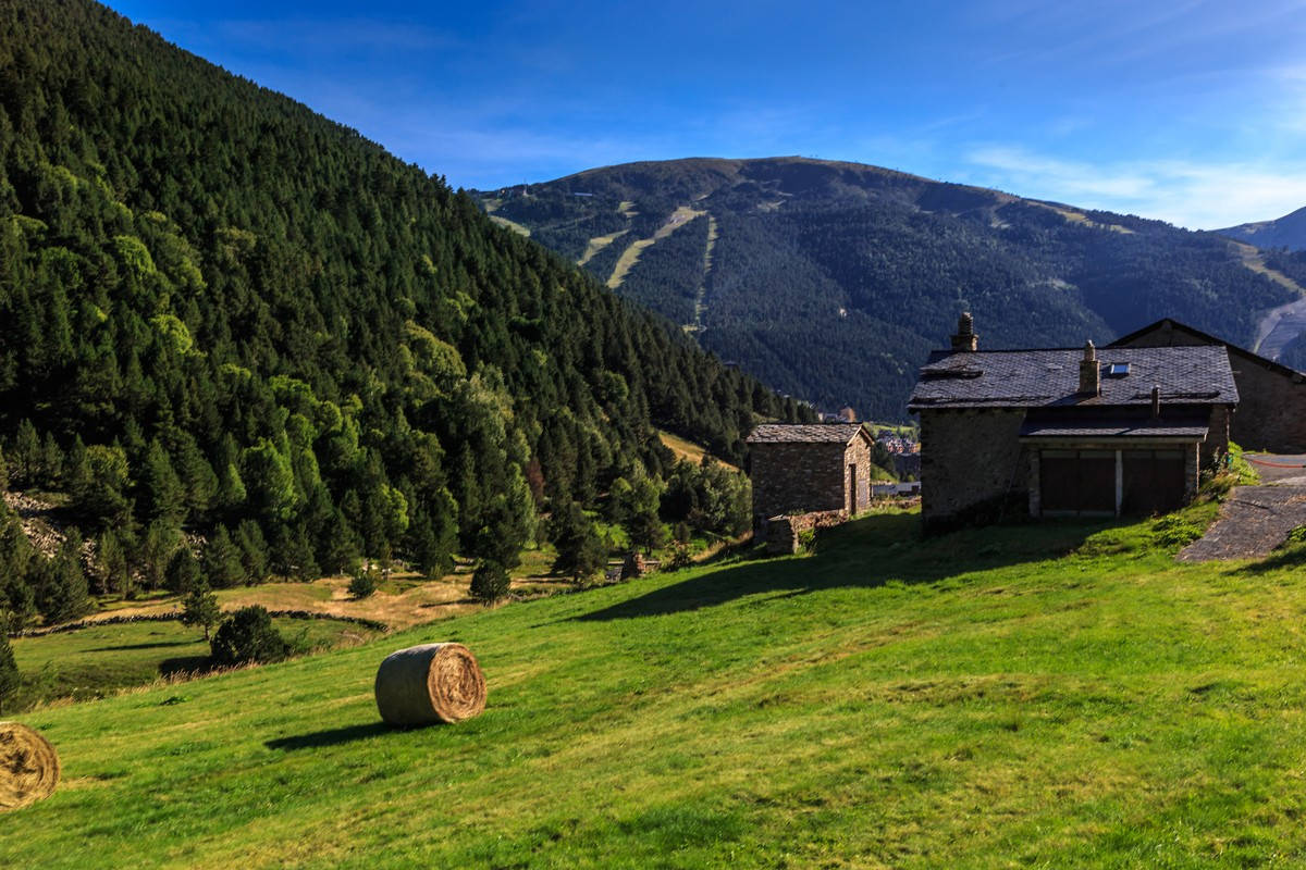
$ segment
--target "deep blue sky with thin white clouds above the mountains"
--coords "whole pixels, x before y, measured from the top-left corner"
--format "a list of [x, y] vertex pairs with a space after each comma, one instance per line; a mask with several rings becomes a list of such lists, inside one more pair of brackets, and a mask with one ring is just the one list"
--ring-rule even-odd
[[1306, 1], [110, 5], [456, 187], [802, 154], [1191, 228], [1306, 206]]

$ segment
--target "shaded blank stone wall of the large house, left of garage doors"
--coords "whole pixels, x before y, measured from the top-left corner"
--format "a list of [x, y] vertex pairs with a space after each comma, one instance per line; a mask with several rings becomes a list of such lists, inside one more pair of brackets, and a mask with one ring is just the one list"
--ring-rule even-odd
[[1021, 462], [1023, 410], [926, 408], [921, 411], [921, 519], [926, 528], [964, 517], [966, 509], [1025, 497]]

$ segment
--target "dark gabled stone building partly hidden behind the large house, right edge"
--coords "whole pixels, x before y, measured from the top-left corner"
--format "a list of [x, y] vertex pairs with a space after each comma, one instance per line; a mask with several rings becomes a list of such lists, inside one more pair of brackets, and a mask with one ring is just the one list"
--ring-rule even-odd
[[1306, 453], [1306, 374], [1165, 317], [1107, 347], [1222, 347], [1238, 387], [1229, 437], [1249, 450]]

